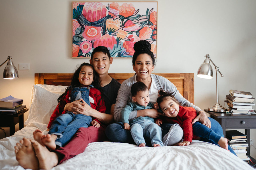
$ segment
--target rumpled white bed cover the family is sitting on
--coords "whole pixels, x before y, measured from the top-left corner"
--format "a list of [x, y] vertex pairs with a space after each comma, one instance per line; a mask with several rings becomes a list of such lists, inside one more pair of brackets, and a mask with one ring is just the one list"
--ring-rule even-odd
[[[14, 136], [0, 140], [0, 169], [24, 169], [18, 165], [14, 146], [46, 124], [33, 122]], [[44, 131], [47, 133], [47, 131]], [[189, 146], [137, 147], [127, 143], [94, 142], [86, 150], [52, 169], [254, 169], [232, 153], [210, 143]]]

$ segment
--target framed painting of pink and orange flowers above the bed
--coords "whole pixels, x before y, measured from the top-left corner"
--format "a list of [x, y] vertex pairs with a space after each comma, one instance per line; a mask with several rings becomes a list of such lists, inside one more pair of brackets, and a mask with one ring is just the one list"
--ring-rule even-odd
[[132, 58], [134, 43], [147, 40], [156, 57], [157, 2], [72, 2], [72, 58], [108, 47], [115, 58]]

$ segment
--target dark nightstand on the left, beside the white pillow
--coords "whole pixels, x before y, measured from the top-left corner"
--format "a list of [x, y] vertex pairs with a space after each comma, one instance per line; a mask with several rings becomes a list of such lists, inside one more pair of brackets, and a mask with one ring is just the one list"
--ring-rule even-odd
[[24, 113], [27, 112], [28, 109], [25, 109], [19, 113], [0, 113], [0, 127], [9, 127], [10, 128], [10, 136], [15, 133], [15, 125], [19, 123], [19, 129], [24, 127]]

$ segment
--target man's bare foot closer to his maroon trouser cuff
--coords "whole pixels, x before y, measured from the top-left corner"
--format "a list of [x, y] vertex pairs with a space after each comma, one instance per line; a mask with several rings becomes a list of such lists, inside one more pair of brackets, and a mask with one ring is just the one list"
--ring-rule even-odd
[[58, 164], [58, 156], [55, 152], [48, 151], [47, 148], [33, 139], [30, 141], [38, 158], [40, 169], [51, 169]]

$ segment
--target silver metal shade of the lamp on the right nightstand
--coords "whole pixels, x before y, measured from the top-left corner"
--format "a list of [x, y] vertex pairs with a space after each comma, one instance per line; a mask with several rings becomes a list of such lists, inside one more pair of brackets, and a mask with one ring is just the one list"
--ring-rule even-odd
[[204, 62], [199, 67], [197, 74], [197, 77], [204, 78], [204, 79], [212, 79], [212, 67], [210, 64], [209, 59], [205, 59]]

